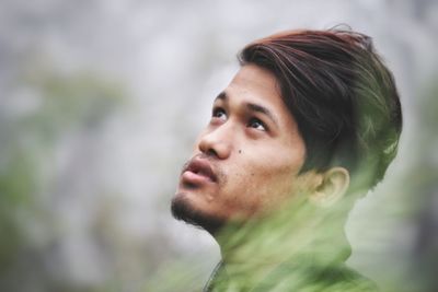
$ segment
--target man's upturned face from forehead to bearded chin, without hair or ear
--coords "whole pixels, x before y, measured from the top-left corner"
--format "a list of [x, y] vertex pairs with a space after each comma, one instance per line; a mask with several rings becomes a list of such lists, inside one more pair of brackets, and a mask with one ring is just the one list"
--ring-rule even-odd
[[304, 142], [275, 77], [244, 66], [214, 103], [211, 119], [183, 168], [172, 211], [207, 230], [209, 223], [265, 213], [295, 192], [304, 156]]

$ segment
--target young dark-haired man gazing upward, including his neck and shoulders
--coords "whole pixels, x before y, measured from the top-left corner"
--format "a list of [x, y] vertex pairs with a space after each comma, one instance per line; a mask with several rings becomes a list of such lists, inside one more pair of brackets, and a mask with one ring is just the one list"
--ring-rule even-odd
[[172, 200], [219, 243], [205, 291], [374, 291], [344, 265], [344, 225], [396, 153], [391, 72], [341, 30], [272, 35], [239, 61]]

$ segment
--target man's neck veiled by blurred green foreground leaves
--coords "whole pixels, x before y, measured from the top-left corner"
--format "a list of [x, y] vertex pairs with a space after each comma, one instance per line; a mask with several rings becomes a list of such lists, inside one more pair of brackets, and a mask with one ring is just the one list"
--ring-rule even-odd
[[245, 224], [230, 224], [215, 236], [224, 267], [264, 272], [284, 262], [338, 265], [349, 256], [344, 220], [312, 208], [275, 212]]

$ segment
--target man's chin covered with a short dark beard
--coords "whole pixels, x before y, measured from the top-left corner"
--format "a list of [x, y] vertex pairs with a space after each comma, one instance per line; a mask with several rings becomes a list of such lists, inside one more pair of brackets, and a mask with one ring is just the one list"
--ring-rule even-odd
[[176, 220], [201, 227], [212, 235], [221, 230], [226, 223], [223, 219], [197, 208], [186, 192], [175, 195], [172, 199], [171, 211]]

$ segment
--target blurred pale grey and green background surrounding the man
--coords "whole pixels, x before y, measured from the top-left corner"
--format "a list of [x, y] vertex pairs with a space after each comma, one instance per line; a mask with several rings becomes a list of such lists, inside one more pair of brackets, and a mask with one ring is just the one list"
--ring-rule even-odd
[[433, 271], [416, 259], [438, 256], [437, 15], [435, 0], [0, 0], [0, 290], [199, 289], [218, 248], [169, 205], [212, 98], [249, 42], [337, 24], [373, 37], [405, 119], [348, 262], [383, 287]]

